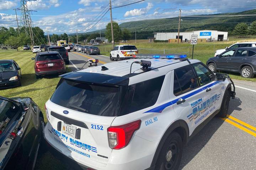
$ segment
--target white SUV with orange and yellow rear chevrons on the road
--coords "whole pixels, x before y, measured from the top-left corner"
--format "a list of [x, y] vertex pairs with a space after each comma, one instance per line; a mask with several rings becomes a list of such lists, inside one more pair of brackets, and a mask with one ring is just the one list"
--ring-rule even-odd
[[138, 54], [138, 49], [134, 45], [117, 45], [110, 52], [110, 60], [120, 61], [130, 59], [136, 54]]

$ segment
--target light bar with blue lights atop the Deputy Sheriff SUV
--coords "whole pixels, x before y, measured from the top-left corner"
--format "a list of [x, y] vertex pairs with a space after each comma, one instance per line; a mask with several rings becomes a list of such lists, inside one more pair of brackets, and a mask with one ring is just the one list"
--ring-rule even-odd
[[133, 58], [166, 58], [166, 59], [180, 59], [186, 58], [187, 55], [180, 54], [137, 54], [133, 55]]

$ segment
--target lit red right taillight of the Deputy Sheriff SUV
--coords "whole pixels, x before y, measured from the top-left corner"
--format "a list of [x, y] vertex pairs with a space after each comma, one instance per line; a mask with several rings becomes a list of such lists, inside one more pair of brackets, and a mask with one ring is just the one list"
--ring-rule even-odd
[[126, 147], [134, 132], [140, 128], [140, 124], [141, 120], [136, 120], [125, 125], [110, 126], [107, 129], [109, 147], [112, 149], [122, 149]]

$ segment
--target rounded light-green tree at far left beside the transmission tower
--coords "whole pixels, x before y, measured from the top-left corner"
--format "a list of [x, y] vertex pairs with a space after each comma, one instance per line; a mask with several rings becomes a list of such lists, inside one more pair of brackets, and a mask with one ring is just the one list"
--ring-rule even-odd
[[21, 47], [29, 42], [29, 38], [26, 37], [24, 33], [21, 33], [18, 36], [11, 35], [9, 38], [5, 41], [5, 44], [8, 44], [10, 46], [13, 46], [17, 49], [18, 47]]

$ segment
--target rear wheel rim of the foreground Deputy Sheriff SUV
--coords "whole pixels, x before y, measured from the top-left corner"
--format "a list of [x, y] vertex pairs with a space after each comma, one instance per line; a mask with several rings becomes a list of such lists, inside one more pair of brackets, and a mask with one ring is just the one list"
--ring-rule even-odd
[[178, 145], [175, 141], [173, 141], [169, 148], [167, 149], [166, 155], [165, 155], [165, 169], [171, 170], [173, 169], [178, 160], [178, 154], [180, 149], [178, 148]]

